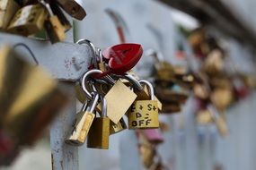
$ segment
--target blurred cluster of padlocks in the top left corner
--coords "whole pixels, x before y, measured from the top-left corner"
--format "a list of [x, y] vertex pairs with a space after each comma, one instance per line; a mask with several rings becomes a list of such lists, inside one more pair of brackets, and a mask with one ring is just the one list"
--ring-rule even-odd
[[77, 20], [86, 15], [74, 0], [3, 0], [0, 30], [35, 38], [45, 38], [46, 32], [51, 43], [63, 41], [72, 25], [61, 9]]

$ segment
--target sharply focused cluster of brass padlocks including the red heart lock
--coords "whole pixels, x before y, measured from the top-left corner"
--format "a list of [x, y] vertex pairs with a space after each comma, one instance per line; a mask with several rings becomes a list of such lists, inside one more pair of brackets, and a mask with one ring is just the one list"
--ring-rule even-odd
[[89, 40], [77, 43], [91, 47], [94, 57], [75, 86], [83, 106], [66, 143], [80, 146], [88, 137], [88, 148], [108, 149], [110, 134], [127, 129], [124, 115], [128, 129], [158, 128], [161, 103], [154, 97], [154, 87], [131, 72], [142, 56], [142, 47], [120, 44], [101, 52]]

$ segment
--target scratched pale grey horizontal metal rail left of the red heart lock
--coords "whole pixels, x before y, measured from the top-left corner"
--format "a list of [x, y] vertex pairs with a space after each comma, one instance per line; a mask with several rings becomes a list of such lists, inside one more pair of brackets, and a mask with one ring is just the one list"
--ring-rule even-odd
[[[61, 81], [75, 81], [87, 70], [90, 48], [76, 45], [71, 42], [62, 42], [51, 45], [49, 42], [23, 38], [21, 36], [0, 33], [0, 42], [14, 45], [24, 43], [39, 61], [40, 66], [46, 69], [54, 78]], [[31, 55], [24, 47], [16, 50], [33, 64]]]

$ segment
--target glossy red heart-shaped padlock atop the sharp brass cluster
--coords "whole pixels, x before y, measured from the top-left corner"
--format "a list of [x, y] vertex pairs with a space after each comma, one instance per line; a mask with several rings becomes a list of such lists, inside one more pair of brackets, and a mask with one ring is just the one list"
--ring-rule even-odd
[[143, 49], [139, 44], [119, 44], [102, 52], [103, 60], [109, 64], [110, 72], [124, 74], [140, 60]]

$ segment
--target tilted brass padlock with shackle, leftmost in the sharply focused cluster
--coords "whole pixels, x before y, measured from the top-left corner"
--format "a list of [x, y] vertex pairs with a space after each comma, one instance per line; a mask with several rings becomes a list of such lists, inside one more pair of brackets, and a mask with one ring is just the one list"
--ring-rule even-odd
[[99, 94], [96, 94], [91, 101], [91, 106], [86, 102], [82, 110], [75, 115], [75, 122], [71, 135], [65, 140], [67, 144], [80, 146], [84, 144], [88, 132], [93, 124], [95, 114], [93, 113], [99, 100]]

